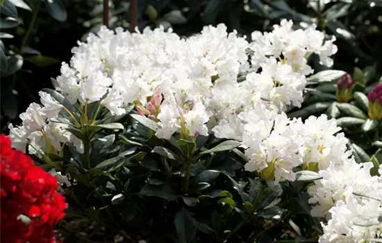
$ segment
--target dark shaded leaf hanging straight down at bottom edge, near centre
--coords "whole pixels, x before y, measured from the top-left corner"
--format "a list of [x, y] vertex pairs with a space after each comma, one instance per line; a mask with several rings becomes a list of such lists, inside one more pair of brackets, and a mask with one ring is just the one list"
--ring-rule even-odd
[[191, 217], [190, 212], [185, 208], [176, 213], [174, 224], [180, 243], [190, 242], [197, 233], [197, 221]]

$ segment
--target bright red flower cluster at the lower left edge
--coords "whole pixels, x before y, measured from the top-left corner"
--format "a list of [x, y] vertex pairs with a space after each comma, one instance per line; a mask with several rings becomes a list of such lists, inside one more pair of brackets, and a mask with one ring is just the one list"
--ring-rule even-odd
[[0, 135], [0, 235], [6, 243], [54, 243], [67, 208], [56, 178]]

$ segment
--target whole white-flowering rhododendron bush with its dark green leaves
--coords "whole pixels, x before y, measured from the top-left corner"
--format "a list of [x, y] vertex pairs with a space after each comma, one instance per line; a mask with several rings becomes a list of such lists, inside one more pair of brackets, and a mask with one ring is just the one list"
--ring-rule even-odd
[[337, 47], [304, 27], [101, 28], [9, 126], [13, 146], [126, 242], [379, 242], [378, 167], [356, 162], [335, 119], [287, 115], [306, 85], [344, 74], [313, 74], [309, 58], [330, 67]]

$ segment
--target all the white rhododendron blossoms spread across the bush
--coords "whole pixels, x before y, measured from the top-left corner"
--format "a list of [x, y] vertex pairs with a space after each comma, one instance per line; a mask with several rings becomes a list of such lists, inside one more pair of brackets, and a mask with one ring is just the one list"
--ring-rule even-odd
[[[181, 133], [242, 141], [245, 169], [267, 181], [294, 181], [296, 167], [319, 171], [323, 178], [308, 190], [312, 215], [329, 219], [319, 241], [365, 242], [381, 235], [381, 202], [354, 193], [382, 198], [370, 186], [382, 188], [381, 178], [370, 176], [372, 164], [349, 158], [335, 120], [322, 115], [303, 122], [284, 113], [303, 101], [306, 75], [313, 73], [306, 57], [316, 53], [331, 66], [334, 40], [324, 40], [314, 25], [293, 30], [286, 20], [270, 33], [254, 32], [252, 42], [223, 24], [187, 39], [163, 28], [101, 28], [73, 49], [56, 90], [77, 110], [97, 103], [119, 116], [133, 104], [158, 123], [156, 136], [163, 139]], [[9, 126], [13, 146], [41, 155], [72, 144], [83, 153], [82, 141], [67, 130], [76, 117], [51, 94], [40, 97], [42, 106], [32, 103], [20, 115], [21, 126]], [[365, 221], [376, 224], [360, 226]]]

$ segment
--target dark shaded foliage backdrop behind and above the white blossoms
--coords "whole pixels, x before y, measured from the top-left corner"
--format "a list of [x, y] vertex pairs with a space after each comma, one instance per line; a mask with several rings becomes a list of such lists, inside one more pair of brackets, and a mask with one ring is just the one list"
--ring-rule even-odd
[[[77, 40], [102, 24], [102, 0], [0, 0], [0, 128], [51, 87], [60, 62], [69, 62]], [[242, 35], [271, 31], [281, 19], [315, 23], [337, 37], [334, 69], [354, 67], [379, 74], [382, 0], [138, 0], [140, 29], [163, 25], [191, 35], [224, 23]], [[129, 28], [129, 0], [110, 1], [110, 28]], [[24, 43], [24, 48], [21, 48]], [[313, 58], [313, 67], [322, 69]], [[376, 75], [381, 76], [381, 75]], [[379, 82], [376, 80], [375, 82]]]

